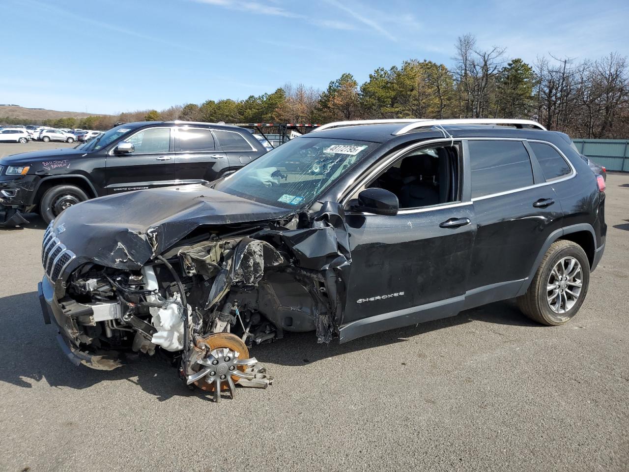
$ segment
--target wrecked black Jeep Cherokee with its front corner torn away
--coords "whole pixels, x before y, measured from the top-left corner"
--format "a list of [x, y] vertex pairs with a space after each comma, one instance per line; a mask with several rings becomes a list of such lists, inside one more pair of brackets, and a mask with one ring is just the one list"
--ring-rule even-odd
[[75, 364], [170, 357], [188, 385], [270, 378], [251, 346], [406, 327], [516, 298], [570, 320], [603, 255], [604, 181], [525, 120], [321, 126], [209, 184], [75, 205], [39, 286]]

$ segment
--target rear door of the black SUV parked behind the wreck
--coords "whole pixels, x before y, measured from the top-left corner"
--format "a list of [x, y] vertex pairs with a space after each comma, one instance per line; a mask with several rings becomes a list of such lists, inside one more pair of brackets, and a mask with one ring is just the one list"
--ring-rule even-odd
[[177, 126], [174, 132], [175, 179], [178, 183], [211, 182], [230, 167], [225, 152], [216, 149], [210, 128]]

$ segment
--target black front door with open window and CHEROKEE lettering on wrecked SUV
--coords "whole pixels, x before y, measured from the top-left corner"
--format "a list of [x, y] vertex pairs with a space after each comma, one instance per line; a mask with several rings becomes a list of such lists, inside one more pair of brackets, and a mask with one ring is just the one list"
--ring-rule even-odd
[[457, 149], [415, 150], [367, 185], [396, 193], [398, 215], [346, 213], [352, 263], [341, 342], [462, 309], [476, 216], [459, 188]]

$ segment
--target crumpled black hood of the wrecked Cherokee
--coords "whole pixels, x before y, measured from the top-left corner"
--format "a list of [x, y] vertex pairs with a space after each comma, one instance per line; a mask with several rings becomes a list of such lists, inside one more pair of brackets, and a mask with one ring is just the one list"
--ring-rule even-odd
[[286, 208], [203, 185], [187, 185], [84, 201], [59, 215], [53, 229], [77, 256], [73, 267], [96, 262], [119, 269], [140, 269], [201, 225], [255, 223], [290, 214]]

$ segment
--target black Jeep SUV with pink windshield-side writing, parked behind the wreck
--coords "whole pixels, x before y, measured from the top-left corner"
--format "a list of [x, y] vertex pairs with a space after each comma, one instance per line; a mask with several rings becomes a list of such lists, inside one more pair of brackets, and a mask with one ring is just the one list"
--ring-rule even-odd
[[207, 183], [266, 149], [244, 128], [191, 123], [126, 123], [74, 149], [25, 152], [0, 159], [0, 226], [45, 222], [69, 206], [129, 190]]

